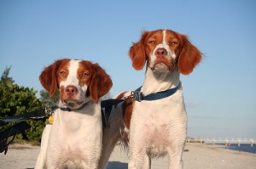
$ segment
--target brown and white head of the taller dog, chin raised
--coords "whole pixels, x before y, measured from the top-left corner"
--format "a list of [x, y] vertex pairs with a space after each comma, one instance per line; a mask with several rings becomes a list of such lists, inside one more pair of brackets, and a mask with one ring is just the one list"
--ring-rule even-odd
[[156, 71], [178, 69], [188, 75], [200, 63], [202, 54], [188, 37], [171, 30], [144, 31], [141, 39], [129, 51], [132, 66]]

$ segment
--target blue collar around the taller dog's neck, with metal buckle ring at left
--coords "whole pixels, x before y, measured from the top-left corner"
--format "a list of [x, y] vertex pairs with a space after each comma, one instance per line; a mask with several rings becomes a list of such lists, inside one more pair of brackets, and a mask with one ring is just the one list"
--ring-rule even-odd
[[171, 96], [172, 94], [176, 93], [177, 92], [177, 88], [180, 86], [180, 84], [177, 85], [177, 87], [175, 88], [171, 88], [171, 89], [168, 89], [166, 91], [161, 91], [161, 92], [158, 92], [158, 93], [151, 93], [151, 94], [148, 94], [147, 96], [145, 96], [142, 92], [141, 92], [141, 89], [142, 87], [139, 87], [137, 88], [133, 94], [134, 94], [134, 99], [138, 102], [141, 102], [143, 100], [146, 100], [146, 101], [153, 101], [153, 100], [157, 100], [157, 99], [165, 99], [169, 96]]

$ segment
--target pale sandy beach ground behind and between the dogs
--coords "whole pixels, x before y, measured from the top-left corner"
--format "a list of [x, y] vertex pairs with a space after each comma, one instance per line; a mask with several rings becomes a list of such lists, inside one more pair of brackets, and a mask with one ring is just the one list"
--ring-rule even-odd
[[[1, 169], [33, 168], [39, 153], [38, 146], [14, 144], [7, 155], [0, 154]], [[186, 144], [183, 154], [184, 169], [256, 169], [256, 154], [223, 149], [218, 145]], [[113, 150], [108, 169], [126, 169], [128, 155], [117, 145]], [[152, 169], [168, 168], [168, 158], [152, 161]]]

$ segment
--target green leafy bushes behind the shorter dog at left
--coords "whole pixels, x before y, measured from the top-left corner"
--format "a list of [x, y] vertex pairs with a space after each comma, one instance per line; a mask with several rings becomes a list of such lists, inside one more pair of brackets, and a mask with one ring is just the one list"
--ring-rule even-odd
[[[0, 118], [7, 116], [20, 115], [31, 112], [33, 110], [44, 109], [45, 106], [54, 104], [55, 99], [49, 99], [48, 93], [41, 91], [41, 99], [38, 99], [33, 88], [20, 87], [15, 84], [15, 81], [9, 77], [10, 67], [3, 71], [0, 81]], [[38, 120], [26, 120], [31, 125], [29, 130], [20, 133], [17, 138], [29, 141], [40, 142], [41, 134], [44, 130], [46, 118]], [[14, 122], [9, 122], [8, 125], [1, 127], [0, 131], [10, 127]]]

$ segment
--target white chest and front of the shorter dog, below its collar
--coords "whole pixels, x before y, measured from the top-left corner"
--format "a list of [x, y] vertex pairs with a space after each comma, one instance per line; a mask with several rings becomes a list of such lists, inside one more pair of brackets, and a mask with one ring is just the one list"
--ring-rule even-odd
[[47, 168], [97, 168], [102, 148], [100, 109], [90, 102], [76, 112], [55, 111], [46, 148]]

